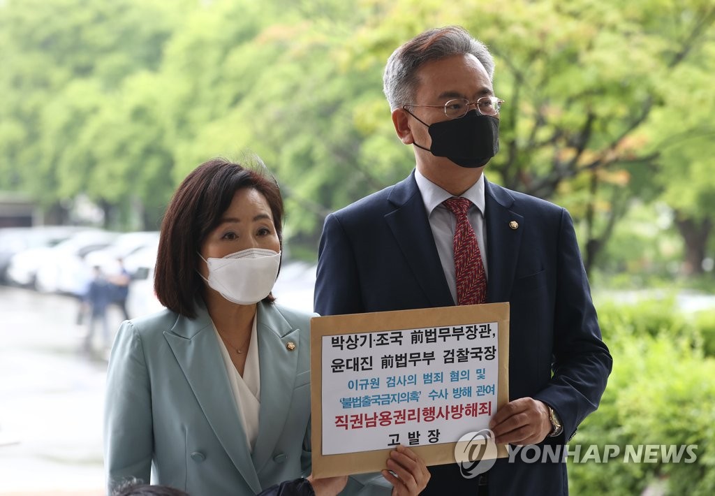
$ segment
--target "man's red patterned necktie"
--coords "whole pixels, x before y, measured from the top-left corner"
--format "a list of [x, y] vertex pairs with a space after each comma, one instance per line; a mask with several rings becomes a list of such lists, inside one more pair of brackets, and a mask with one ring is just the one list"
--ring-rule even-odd
[[457, 279], [457, 304], [484, 303], [487, 278], [477, 237], [467, 218], [472, 204], [467, 198], [450, 198], [442, 202], [457, 218], [454, 230], [454, 268]]

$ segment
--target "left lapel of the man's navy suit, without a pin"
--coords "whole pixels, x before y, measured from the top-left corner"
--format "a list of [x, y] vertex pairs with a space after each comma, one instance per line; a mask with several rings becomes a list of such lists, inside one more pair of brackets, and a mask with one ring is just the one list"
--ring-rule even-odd
[[425, 212], [425, 203], [415, 181], [415, 172], [396, 184], [390, 196], [395, 210], [385, 215], [405, 260], [432, 306], [453, 306], [447, 279]]

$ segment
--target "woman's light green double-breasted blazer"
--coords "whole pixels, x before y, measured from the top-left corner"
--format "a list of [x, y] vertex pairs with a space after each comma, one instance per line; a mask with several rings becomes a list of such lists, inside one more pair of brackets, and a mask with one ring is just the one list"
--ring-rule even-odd
[[[251, 453], [206, 308], [122, 324], [105, 411], [109, 479], [134, 476], [191, 495], [255, 494], [310, 473], [309, 321], [257, 306], [261, 403]], [[295, 349], [290, 351], [287, 346]]]

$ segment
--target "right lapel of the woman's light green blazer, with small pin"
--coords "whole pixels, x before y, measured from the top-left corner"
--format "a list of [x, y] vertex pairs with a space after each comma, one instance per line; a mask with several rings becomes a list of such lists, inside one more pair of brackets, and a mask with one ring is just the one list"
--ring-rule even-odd
[[[298, 329], [286, 321], [275, 306], [258, 303], [257, 318], [261, 407], [252, 460], [260, 472], [273, 454], [289, 414], [299, 353], [297, 349], [288, 350], [287, 345], [293, 343], [297, 348], [308, 343], [299, 342]], [[303, 331], [307, 336], [309, 329]]]

